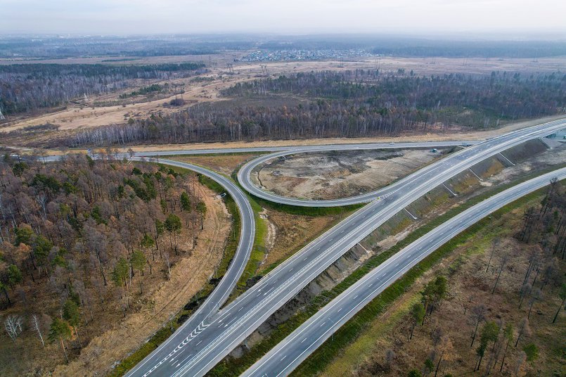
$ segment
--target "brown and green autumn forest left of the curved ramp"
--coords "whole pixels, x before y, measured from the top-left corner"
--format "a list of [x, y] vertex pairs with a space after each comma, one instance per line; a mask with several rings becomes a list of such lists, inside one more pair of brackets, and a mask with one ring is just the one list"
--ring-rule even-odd
[[5, 155], [5, 335], [16, 342], [31, 331], [37, 343], [27, 344], [32, 337], [26, 336], [27, 347], [52, 343], [57, 358], [68, 362], [112, 320], [135, 312], [149, 285], [168, 279], [191, 253], [180, 240], [195, 243], [207, 210], [197, 182], [195, 174], [116, 160], [111, 151], [97, 160], [67, 155], [49, 164]]

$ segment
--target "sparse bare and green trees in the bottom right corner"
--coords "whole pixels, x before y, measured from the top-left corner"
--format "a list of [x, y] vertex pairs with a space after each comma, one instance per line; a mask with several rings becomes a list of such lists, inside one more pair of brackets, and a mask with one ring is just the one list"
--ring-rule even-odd
[[[560, 335], [548, 333], [548, 330], [558, 331], [559, 315], [566, 302], [566, 192], [556, 179], [545, 191], [541, 202], [525, 207], [520, 226], [511, 234], [514, 241], [501, 236], [492, 238], [481, 264], [470, 267], [476, 269], [478, 275], [471, 283], [475, 296], [463, 298], [463, 292], [450, 292], [451, 285], [463, 282], [452, 282], [446, 289], [445, 276], [438, 276], [425, 285], [420, 292], [420, 302], [411, 306], [404, 326], [408, 328], [409, 343], [415, 341], [411, 339], [416, 328], [426, 327], [429, 331], [432, 328], [432, 331], [421, 331], [419, 335], [430, 337], [425, 343], [432, 343], [432, 350], [420, 368], [412, 369], [408, 376], [432, 376], [443, 368], [459, 369], [462, 373], [464, 363], [458, 363], [458, 358], [466, 356], [467, 366], [473, 366], [473, 372], [482, 376], [532, 376], [534, 371], [551, 376], [552, 368], [552, 375], [558, 376], [555, 368], [556, 362], [560, 364], [560, 356], [551, 354], [551, 350], [563, 347]], [[513, 242], [518, 250], [506, 250], [506, 244]], [[522, 262], [517, 264], [513, 258], [522, 259]], [[491, 276], [486, 275], [488, 271]], [[497, 295], [505, 298], [490, 300]], [[442, 304], [445, 300], [456, 301], [455, 298], [468, 301], [468, 304], [476, 303], [470, 305], [468, 312], [464, 311], [468, 328], [450, 334], [450, 324], [443, 321], [454, 313], [446, 307], [449, 304]], [[495, 302], [500, 307], [492, 307]], [[434, 315], [437, 317], [433, 318]], [[470, 337], [461, 336], [461, 332], [469, 333]], [[460, 344], [461, 338], [465, 344]], [[540, 364], [547, 357], [552, 359], [552, 366]], [[391, 366], [386, 354], [385, 363], [375, 358], [364, 365], [359, 376], [375, 375], [375, 369], [387, 371]]]

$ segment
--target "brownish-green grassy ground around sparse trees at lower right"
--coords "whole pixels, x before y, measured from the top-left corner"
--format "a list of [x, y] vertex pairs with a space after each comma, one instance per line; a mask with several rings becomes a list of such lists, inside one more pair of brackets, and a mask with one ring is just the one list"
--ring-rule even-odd
[[[529, 333], [514, 347], [517, 339], [517, 326], [527, 317], [529, 303], [517, 309], [518, 292], [528, 265], [532, 246], [518, 243], [511, 238], [520, 227], [522, 209], [496, 220], [489, 226], [489, 234], [480, 232], [470, 241], [458, 247], [450, 257], [444, 259], [435, 269], [428, 271], [405, 293], [394, 306], [377, 317], [368, 331], [364, 331], [356, 342], [349, 345], [339, 357], [321, 373], [321, 376], [406, 376], [410, 369], [422, 371], [425, 359], [435, 350], [431, 334], [442, 328], [442, 333], [451, 340], [452, 349], [446, 354], [439, 368], [439, 376], [451, 373], [453, 376], [471, 376], [477, 361], [475, 348], [470, 347], [475, 322], [470, 316], [475, 305], [487, 307], [486, 317], [490, 321], [503, 321], [515, 326], [514, 341], [508, 349], [503, 373], [499, 372], [501, 356], [496, 367], [491, 370], [494, 376], [553, 376], [553, 372], [564, 371], [564, 360], [560, 357], [560, 338], [563, 339], [564, 314], [556, 324], [553, 316], [560, 305], [556, 288], [548, 288], [544, 299], [536, 302], [529, 319]], [[491, 267], [486, 271], [491, 238], [502, 236], [501, 247], [496, 250]], [[510, 255], [509, 262], [501, 274], [495, 293], [494, 286], [501, 256]], [[556, 267], [564, 269], [560, 262]], [[420, 299], [420, 290], [436, 274], [444, 274], [449, 279], [448, 298], [442, 306], [425, 320], [424, 326], [417, 326], [413, 339], [409, 340], [411, 320], [408, 314], [413, 302]], [[531, 277], [532, 280], [532, 277]], [[536, 286], [538, 288], [539, 281]], [[527, 298], [528, 300], [528, 298]], [[525, 300], [525, 301], [527, 301]], [[482, 325], [480, 325], [480, 330]], [[480, 333], [480, 331], [478, 331]], [[479, 335], [478, 335], [479, 337]], [[519, 363], [520, 351], [528, 343], [536, 343], [540, 355], [536, 361]], [[393, 350], [394, 358], [390, 366], [385, 362], [385, 352]], [[491, 345], [489, 346], [491, 350]], [[489, 352], [482, 362], [482, 372], [489, 363]], [[520, 365], [519, 365], [520, 364]], [[435, 363], [436, 366], [436, 363]], [[518, 373], [515, 369], [518, 367]], [[432, 372], [434, 373], [434, 371]], [[477, 374], [478, 376], [480, 374]], [[558, 376], [559, 374], [554, 374]]]

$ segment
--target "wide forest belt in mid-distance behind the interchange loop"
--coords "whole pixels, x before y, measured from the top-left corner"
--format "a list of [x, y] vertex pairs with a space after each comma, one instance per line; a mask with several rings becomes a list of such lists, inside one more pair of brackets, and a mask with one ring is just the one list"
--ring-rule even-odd
[[[223, 94], [236, 101], [88, 129], [63, 142], [74, 147], [363, 137], [451, 126], [486, 129], [501, 121], [564, 111], [566, 75], [311, 72], [238, 83]], [[281, 98], [288, 98], [288, 104], [273, 101]]]

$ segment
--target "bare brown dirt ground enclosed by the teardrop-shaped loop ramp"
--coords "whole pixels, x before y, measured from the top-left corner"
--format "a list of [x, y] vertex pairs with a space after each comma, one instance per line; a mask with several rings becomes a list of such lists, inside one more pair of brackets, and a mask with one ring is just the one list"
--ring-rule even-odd
[[440, 150], [303, 153], [265, 165], [255, 180], [281, 196], [345, 198], [386, 186], [441, 154]]

